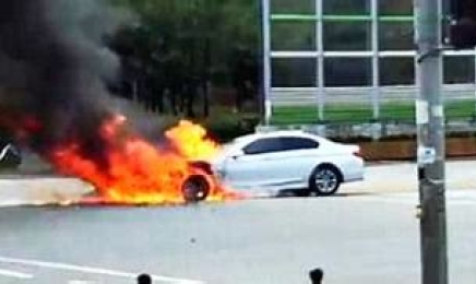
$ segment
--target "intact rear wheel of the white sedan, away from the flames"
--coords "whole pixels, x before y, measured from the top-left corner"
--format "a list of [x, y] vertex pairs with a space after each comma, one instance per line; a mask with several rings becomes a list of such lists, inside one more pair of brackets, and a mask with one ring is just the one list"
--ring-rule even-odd
[[309, 179], [309, 191], [318, 196], [332, 196], [340, 188], [342, 174], [331, 165], [318, 166]]

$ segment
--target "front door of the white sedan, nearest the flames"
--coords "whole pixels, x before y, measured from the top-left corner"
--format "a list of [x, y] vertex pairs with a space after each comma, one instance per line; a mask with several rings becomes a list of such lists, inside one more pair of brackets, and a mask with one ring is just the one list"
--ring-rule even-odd
[[279, 138], [259, 138], [243, 145], [240, 155], [227, 158], [224, 179], [236, 189], [267, 187], [277, 177], [276, 156], [282, 150]]

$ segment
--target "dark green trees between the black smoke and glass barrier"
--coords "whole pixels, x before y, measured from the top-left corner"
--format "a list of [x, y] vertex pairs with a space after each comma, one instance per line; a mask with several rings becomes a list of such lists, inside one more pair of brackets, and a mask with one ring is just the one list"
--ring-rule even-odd
[[231, 75], [228, 62], [235, 47], [247, 49], [258, 60], [260, 21], [252, 0], [114, 3], [133, 10], [136, 21], [116, 35], [112, 47], [122, 58], [129, 81], [142, 86], [140, 98], [160, 113], [168, 98], [172, 114], [194, 116], [194, 105], [201, 100], [201, 113], [206, 116], [210, 85], [218, 83], [217, 73]]

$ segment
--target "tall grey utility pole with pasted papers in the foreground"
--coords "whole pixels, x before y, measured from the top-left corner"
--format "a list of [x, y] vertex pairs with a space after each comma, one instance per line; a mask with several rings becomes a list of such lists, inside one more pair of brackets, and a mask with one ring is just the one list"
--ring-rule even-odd
[[418, 47], [416, 122], [424, 284], [448, 283], [441, 0], [415, 0]]

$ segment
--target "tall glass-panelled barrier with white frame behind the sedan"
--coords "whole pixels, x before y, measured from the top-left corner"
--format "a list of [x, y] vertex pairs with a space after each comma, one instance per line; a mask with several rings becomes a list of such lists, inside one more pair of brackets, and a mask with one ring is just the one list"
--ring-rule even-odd
[[[267, 122], [413, 120], [413, 0], [263, 0]], [[444, 51], [449, 119], [474, 118], [475, 69], [474, 50]]]

